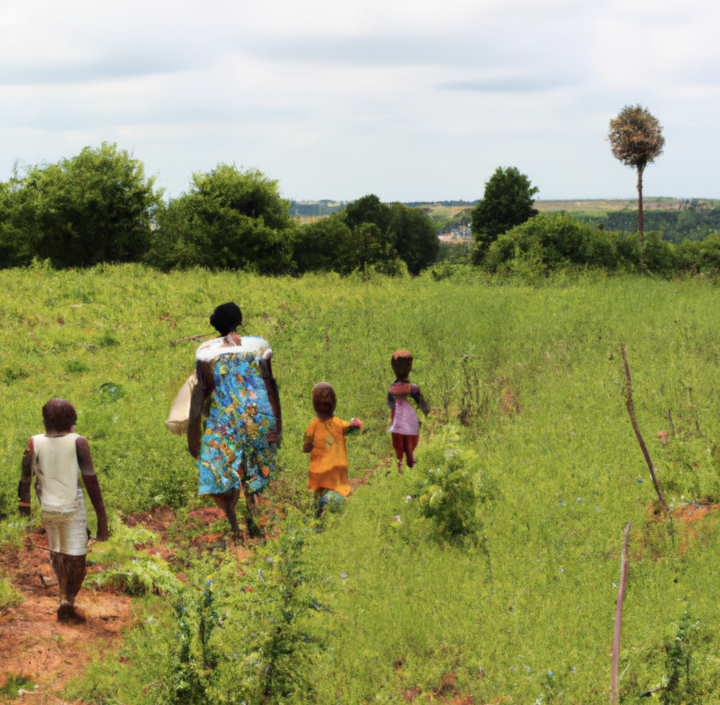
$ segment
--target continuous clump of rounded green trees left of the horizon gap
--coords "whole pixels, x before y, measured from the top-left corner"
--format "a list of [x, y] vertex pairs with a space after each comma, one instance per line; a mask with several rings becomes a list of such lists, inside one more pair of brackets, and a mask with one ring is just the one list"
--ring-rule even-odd
[[23, 174], [16, 167], [0, 183], [0, 266], [38, 258], [57, 267], [418, 274], [436, 261], [436, 229], [418, 208], [369, 194], [301, 224], [290, 206], [276, 180], [224, 163], [193, 174], [189, 189], [165, 202], [142, 161], [103, 143]]

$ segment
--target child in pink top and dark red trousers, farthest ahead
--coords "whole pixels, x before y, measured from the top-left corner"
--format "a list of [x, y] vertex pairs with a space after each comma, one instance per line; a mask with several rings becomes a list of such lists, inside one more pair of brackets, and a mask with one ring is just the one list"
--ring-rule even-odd
[[[418, 408], [428, 416], [430, 409], [423, 399], [418, 385], [410, 384], [410, 372], [413, 369], [413, 356], [407, 350], [398, 350], [390, 359], [392, 372], [395, 372], [395, 382], [390, 385], [387, 392], [387, 405], [390, 407], [390, 433], [392, 434], [392, 447], [397, 455], [397, 472], [402, 475], [402, 457], [408, 459], [408, 467], [415, 464], [415, 448], [420, 441], [420, 421], [415, 409], [408, 402], [408, 397], [415, 401]], [[390, 470], [385, 476], [390, 475]]]

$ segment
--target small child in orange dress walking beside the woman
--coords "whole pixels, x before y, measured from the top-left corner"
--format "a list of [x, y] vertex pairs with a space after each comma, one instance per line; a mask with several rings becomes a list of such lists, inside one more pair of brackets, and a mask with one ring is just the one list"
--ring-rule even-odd
[[312, 408], [318, 416], [307, 426], [302, 452], [310, 453], [310, 481], [307, 486], [315, 492], [315, 502], [320, 511], [328, 495], [340, 495], [342, 498], [350, 495], [345, 436], [362, 428], [362, 421], [357, 418], [348, 423], [334, 416], [337, 403], [335, 390], [327, 382], [318, 382], [312, 387]]

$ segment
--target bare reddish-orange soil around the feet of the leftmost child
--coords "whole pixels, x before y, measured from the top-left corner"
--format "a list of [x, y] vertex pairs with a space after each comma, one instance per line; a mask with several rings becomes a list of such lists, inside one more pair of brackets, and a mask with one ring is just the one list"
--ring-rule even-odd
[[40, 686], [42, 702], [57, 703], [56, 693], [68, 678], [82, 675], [94, 654], [102, 658], [117, 647], [123, 630], [132, 624], [132, 601], [82, 589], [76, 605], [86, 620], [58, 622], [58, 586], [46, 588], [41, 580], [53, 578], [50, 554], [42, 547], [47, 547], [45, 536], [33, 531], [24, 537], [22, 548], [0, 557], [4, 574], [25, 598], [0, 614], [0, 684], [11, 673], [24, 675]]

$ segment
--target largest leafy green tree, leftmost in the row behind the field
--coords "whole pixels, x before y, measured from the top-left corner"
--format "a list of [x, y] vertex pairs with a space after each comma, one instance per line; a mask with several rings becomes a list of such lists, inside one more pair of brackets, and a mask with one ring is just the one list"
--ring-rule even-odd
[[162, 191], [117, 145], [32, 166], [0, 188], [0, 266], [138, 261], [148, 251]]

